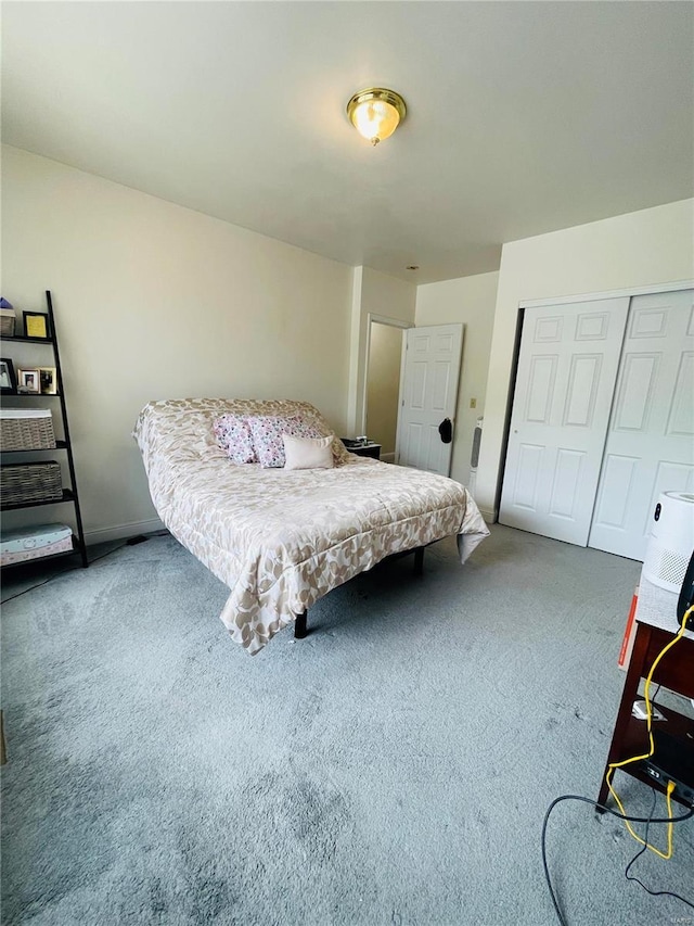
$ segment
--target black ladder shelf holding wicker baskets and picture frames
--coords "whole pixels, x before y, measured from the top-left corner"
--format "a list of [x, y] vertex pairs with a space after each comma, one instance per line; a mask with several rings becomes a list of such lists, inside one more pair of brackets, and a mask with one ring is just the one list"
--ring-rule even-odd
[[[41, 393], [40, 398], [41, 399], [43, 399], [43, 398], [57, 398], [60, 401], [61, 419], [62, 419], [62, 423], [63, 423], [63, 439], [56, 440], [54, 447], [31, 447], [31, 448], [27, 448], [24, 451], [1, 451], [1, 453], [2, 453], [3, 457], [5, 457], [5, 456], [9, 457], [9, 456], [17, 455], [17, 454], [36, 454], [36, 453], [43, 454], [43, 453], [53, 452], [53, 451], [64, 451], [66, 454], [66, 457], [67, 457], [67, 467], [69, 470], [70, 487], [63, 490], [63, 497], [62, 498], [57, 498], [57, 499], [54, 498], [54, 499], [50, 499], [48, 502], [21, 502], [21, 503], [16, 503], [16, 504], [13, 504], [13, 503], [5, 504], [3, 500], [2, 503], [0, 503], [0, 510], [1, 511], [15, 511], [20, 508], [36, 508], [36, 507], [41, 506], [41, 505], [70, 504], [70, 505], [73, 505], [73, 507], [75, 509], [75, 521], [76, 521], [77, 530], [73, 534], [73, 549], [72, 550], [66, 550], [65, 553], [57, 553], [57, 554], [52, 554], [52, 555], [43, 556], [43, 557], [36, 557], [35, 559], [25, 560], [21, 563], [9, 563], [8, 566], [5, 566], [3, 568], [9, 568], [10, 566], [25, 566], [27, 562], [28, 563], [40, 562], [40, 561], [47, 560], [47, 559], [57, 559], [59, 557], [75, 556], [76, 554], [79, 554], [79, 557], [81, 559], [81, 565], [86, 569], [89, 566], [89, 561], [87, 559], [87, 545], [85, 543], [85, 529], [82, 527], [82, 515], [81, 515], [81, 510], [79, 507], [79, 495], [77, 493], [77, 478], [75, 475], [75, 460], [73, 458], [73, 445], [70, 443], [69, 424], [67, 422], [67, 406], [65, 404], [65, 392], [63, 390], [63, 373], [61, 370], [61, 355], [60, 355], [60, 350], [57, 346], [57, 333], [56, 333], [56, 329], [55, 329], [55, 319], [54, 319], [54, 315], [53, 315], [53, 301], [51, 299], [51, 293], [49, 290], [46, 291], [46, 304], [47, 304], [47, 308], [48, 308], [48, 313], [47, 313], [48, 326], [49, 326], [48, 338], [30, 338], [30, 337], [27, 337], [26, 334], [11, 334], [11, 335], [10, 334], [3, 334], [1, 340], [3, 342], [5, 342], [5, 341], [17, 342], [18, 341], [18, 342], [22, 342], [24, 344], [44, 344], [44, 345], [48, 344], [52, 347], [53, 360], [55, 363], [55, 384], [56, 384], [57, 391], [54, 394]], [[5, 398], [9, 398], [12, 403], [14, 403], [15, 399], [36, 398], [36, 397], [37, 396], [35, 393], [21, 393], [21, 392], [15, 393], [15, 392], [13, 392], [13, 393], [9, 393], [9, 394], [3, 395], [3, 404], [4, 404]]]

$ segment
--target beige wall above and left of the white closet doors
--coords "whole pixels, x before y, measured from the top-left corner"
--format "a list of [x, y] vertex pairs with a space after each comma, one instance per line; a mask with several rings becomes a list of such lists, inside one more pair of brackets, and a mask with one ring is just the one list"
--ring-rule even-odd
[[487, 378], [478, 504], [496, 507], [518, 304], [694, 278], [694, 200], [504, 244]]

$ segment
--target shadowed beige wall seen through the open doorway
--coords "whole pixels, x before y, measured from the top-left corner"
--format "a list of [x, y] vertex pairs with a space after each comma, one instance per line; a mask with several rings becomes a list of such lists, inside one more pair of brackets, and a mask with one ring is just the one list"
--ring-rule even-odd
[[381, 444], [382, 458], [395, 453], [403, 334], [390, 325], [371, 326], [365, 433]]

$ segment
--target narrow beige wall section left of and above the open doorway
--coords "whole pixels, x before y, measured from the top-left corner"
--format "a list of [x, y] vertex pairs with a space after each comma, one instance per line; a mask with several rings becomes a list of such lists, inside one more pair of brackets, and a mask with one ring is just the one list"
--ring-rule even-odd
[[370, 267], [355, 267], [351, 303], [348, 431], [363, 434], [367, 418], [367, 353], [369, 318], [376, 315], [406, 326], [414, 325], [416, 287]]

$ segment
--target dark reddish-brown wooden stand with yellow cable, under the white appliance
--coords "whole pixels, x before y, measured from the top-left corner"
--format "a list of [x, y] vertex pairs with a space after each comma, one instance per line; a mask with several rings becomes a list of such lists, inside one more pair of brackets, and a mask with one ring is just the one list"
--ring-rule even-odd
[[[639, 700], [639, 683], [645, 678], [656, 657], [665, 646], [674, 637], [673, 633], [653, 626], [652, 624], [639, 623], [637, 636], [631, 652], [631, 660], [625, 680], [625, 687], [615, 722], [615, 732], [612, 737], [605, 771], [603, 772], [602, 785], [597, 795], [597, 802], [605, 803], [609, 789], [605, 775], [613, 762], [622, 762], [632, 756], [641, 756], [648, 751], [648, 735], [645, 720], [639, 720], [631, 715], [631, 707]], [[685, 698], [694, 698], [694, 639], [683, 636], [669, 649], [658, 662], [651, 682], [651, 697], [657, 685], [663, 685], [671, 692], [684, 695]], [[658, 705], [660, 713], [665, 714], [667, 732], [681, 739], [682, 749], [694, 750], [694, 720], [678, 713], [677, 711]], [[654, 722], [655, 727], [663, 721]], [[625, 765], [619, 770], [633, 775], [640, 782], [645, 782], [651, 787], [665, 792], [665, 788], [654, 781], [641, 766], [639, 762]], [[672, 795], [672, 799], [677, 800]], [[682, 801], [680, 801], [681, 803]]]

